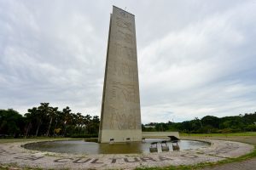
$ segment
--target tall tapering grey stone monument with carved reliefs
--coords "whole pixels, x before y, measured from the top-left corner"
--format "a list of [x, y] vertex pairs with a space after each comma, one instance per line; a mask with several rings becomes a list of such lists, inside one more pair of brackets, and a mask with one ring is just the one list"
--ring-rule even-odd
[[98, 141], [141, 140], [135, 19], [133, 14], [113, 6]]

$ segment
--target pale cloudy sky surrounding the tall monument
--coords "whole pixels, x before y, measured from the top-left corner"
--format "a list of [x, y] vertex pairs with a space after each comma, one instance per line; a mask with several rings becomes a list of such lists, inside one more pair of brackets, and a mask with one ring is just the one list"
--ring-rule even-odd
[[256, 111], [253, 0], [0, 0], [0, 109], [100, 116], [112, 5], [136, 15], [143, 123]]

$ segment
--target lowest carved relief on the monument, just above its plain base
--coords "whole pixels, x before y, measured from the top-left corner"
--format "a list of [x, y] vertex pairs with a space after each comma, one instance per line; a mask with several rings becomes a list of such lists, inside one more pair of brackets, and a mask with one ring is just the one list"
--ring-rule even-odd
[[110, 129], [139, 129], [141, 127], [138, 109], [118, 109], [109, 106], [105, 127]]

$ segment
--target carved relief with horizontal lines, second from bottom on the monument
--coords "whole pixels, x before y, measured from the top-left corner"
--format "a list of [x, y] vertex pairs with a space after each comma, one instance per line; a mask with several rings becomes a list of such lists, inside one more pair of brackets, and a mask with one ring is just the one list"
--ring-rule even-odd
[[111, 99], [124, 100], [125, 102], [138, 103], [136, 95], [138, 92], [134, 84], [125, 84], [121, 82], [112, 82]]

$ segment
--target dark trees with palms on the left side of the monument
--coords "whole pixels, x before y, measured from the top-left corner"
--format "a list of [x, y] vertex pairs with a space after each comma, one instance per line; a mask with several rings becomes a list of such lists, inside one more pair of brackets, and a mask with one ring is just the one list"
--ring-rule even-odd
[[61, 111], [49, 103], [28, 109], [24, 116], [13, 109], [0, 110], [0, 137], [97, 137], [98, 116], [73, 113], [67, 106]]

